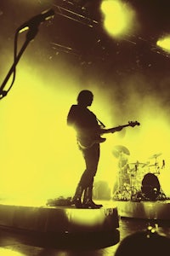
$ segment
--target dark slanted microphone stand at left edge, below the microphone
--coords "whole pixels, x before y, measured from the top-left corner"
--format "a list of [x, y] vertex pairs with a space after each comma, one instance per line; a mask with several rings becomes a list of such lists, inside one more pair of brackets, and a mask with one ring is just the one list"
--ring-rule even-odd
[[[20, 32], [20, 31], [17, 31], [17, 33]], [[28, 46], [28, 44], [31, 42], [31, 40], [33, 40], [36, 35], [37, 35], [37, 32], [38, 32], [38, 27], [37, 26], [31, 26], [29, 27], [29, 31], [27, 32], [26, 34], [26, 41], [25, 43], [23, 44], [23, 46], [21, 47], [20, 49], [20, 52], [18, 55], [15, 56], [14, 58], [14, 63], [12, 65], [12, 67], [9, 69], [8, 71], [8, 74], [6, 76], [6, 78], [3, 80], [3, 84], [0, 86], [0, 100], [7, 95], [8, 93], [8, 90], [3, 90], [3, 88], [5, 87], [5, 85], [7, 84], [8, 82], [8, 79], [10, 78], [11, 74], [15, 72], [15, 67], [17, 65], [17, 63], [20, 61], [20, 57], [21, 55], [24, 53], [26, 47]], [[11, 84], [12, 86], [12, 84]], [[10, 86], [10, 87], [11, 87]]]

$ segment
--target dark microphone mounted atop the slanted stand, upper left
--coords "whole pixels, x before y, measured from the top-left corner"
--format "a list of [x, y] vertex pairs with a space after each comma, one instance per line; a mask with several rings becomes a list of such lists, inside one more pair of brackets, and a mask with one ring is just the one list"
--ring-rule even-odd
[[31, 28], [35, 26], [39, 26], [42, 22], [49, 20], [51, 18], [54, 18], [54, 9], [48, 9], [43, 11], [40, 15], [36, 15], [32, 17], [30, 20], [26, 21], [24, 24], [22, 24], [18, 31], [20, 32], [23, 29]]

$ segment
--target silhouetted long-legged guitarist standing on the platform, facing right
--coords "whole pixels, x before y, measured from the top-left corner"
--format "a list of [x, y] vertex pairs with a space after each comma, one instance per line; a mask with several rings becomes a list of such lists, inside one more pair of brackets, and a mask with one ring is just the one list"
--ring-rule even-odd
[[88, 109], [93, 100], [94, 95], [90, 90], [82, 90], [77, 96], [77, 105], [71, 106], [67, 116], [67, 125], [71, 125], [77, 131], [78, 148], [82, 151], [86, 164], [86, 170], [82, 173], [76, 193], [71, 199], [71, 203], [77, 208], [102, 207], [102, 205], [95, 204], [92, 198], [94, 176], [99, 163], [99, 143], [105, 141], [105, 138], [99, 136], [98, 131], [105, 125]]

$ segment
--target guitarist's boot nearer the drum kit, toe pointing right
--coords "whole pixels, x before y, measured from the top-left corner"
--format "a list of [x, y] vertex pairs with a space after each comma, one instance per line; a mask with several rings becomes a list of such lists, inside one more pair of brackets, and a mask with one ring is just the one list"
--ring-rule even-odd
[[82, 202], [82, 207], [87, 209], [99, 209], [103, 207], [102, 205], [97, 205], [92, 200], [93, 187], [88, 187], [84, 191], [84, 198]]

